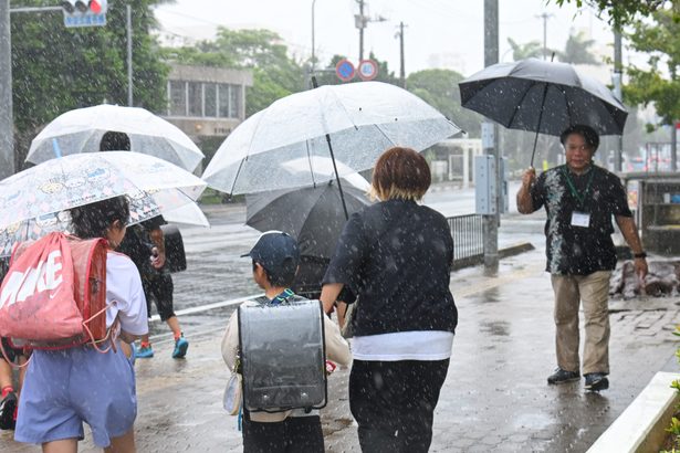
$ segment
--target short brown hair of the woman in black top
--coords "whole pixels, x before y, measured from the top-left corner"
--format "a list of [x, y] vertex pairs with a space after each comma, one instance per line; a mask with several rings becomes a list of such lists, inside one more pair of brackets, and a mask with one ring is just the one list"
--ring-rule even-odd
[[411, 148], [389, 148], [373, 170], [370, 193], [385, 201], [420, 200], [430, 188], [432, 175], [425, 157]]

